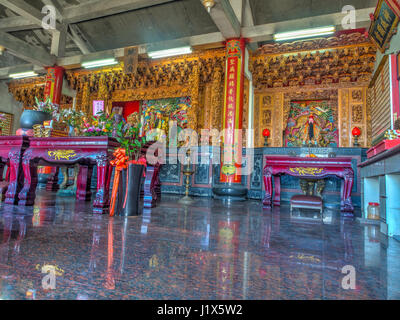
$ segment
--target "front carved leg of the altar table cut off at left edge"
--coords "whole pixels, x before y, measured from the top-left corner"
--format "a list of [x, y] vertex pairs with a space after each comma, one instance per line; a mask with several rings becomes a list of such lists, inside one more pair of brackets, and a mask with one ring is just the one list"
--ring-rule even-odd
[[23, 172], [21, 165], [21, 150], [11, 150], [8, 154], [10, 159], [10, 183], [8, 185], [5, 203], [17, 204], [18, 193], [22, 188], [23, 183]]

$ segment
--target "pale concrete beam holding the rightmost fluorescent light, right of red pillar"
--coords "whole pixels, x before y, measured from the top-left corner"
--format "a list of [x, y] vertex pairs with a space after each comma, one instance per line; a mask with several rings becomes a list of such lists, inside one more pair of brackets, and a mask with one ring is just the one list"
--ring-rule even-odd
[[[356, 11], [356, 28], [368, 27], [370, 24], [369, 14], [373, 13], [375, 8], [359, 9]], [[269, 41], [273, 39], [273, 35], [278, 32], [287, 32], [293, 30], [315, 28], [327, 25], [336, 26], [337, 30], [342, 28], [343, 13], [332, 13], [321, 16], [295, 19], [288, 21], [280, 21], [268, 23], [252, 27], [243, 27], [242, 36], [248, 38], [250, 42]]]

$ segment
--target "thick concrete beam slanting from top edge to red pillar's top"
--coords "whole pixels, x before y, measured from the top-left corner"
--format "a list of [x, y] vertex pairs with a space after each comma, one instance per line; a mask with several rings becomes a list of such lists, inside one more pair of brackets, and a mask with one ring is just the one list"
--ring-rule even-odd
[[240, 21], [229, 0], [216, 0], [215, 6], [210, 10], [210, 16], [225, 39], [240, 37]]

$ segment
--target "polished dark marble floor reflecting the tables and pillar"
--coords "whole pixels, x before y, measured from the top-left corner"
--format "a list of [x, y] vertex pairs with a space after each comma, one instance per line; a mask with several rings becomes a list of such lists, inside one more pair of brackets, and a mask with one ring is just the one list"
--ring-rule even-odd
[[[375, 226], [328, 210], [321, 221], [258, 201], [177, 200], [128, 218], [43, 191], [31, 208], [2, 204], [0, 298], [400, 299], [400, 242], [381, 243]], [[344, 266], [355, 289], [342, 287]]]

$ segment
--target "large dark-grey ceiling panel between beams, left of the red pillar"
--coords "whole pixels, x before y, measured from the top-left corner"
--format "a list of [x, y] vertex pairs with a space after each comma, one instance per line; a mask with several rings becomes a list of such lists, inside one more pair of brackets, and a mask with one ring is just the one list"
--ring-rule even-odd
[[107, 50], [217, 32], [199, 0], [163, 5], [77, 24], [96, 50]]

